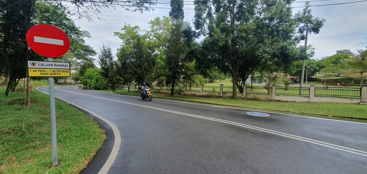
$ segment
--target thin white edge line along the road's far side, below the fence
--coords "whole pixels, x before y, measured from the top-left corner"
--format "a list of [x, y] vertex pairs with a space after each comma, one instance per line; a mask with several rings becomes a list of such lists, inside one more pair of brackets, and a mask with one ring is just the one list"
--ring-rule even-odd
[[[76, 89], [77, 90], [77, 89]], [[91, 91], [95, 93], [103, 93], [99, 91]], [[104, 93], [104, 94], [111, 94], [111, 93]], [[124, 95], [124, 94], [113, 94], [113, 95]], [[138, 97], [133, 95], [124, 95], [128, 97]], [[190, 102], [183, 102], [183, 101], [174, 101], [174, 100], [168, 100], [168, 99], [159, 99], [155, 98], [155, 100], [163, 100], [163, 101], [170, 101], [170, 102], [178, 102], [178, 103], [185, 103], [185, 104], [192, 104], [192, 105], [202, 105], [202, 106], [211, 106], [211, 107], [217, 107], [217, 108], [227, 108], [227, 109], [240, 109], [240, 110], [250, 110], [250, 111], [256, 111], [256, 112], [265, 112], [265, 113], [275, 113], [280, 115], [289, 115], [289, 116], [297, 116], [297, 117], [305, 117], [309, 119], [322, 119], [322, 120], [328, 120], [328, 121], [335, 121], [335, 122], [348, 122], [348, 123], [357, 123], [357, 124], [367, 124], [362, 122], [352, 122], [352, 121], [346, 121], [346, 120], [336, 120], [336, 119], [326, 119], [326, 118], [320, 118], [320, 117], [311, 117], [311, 116], [303, 116], [303, 115], [294, 115], [294, 114], [287, 114], [287, 113], [279, 113], [279, 112], [269, 112], [264, 110], [252, 110], [252, 109], [242, 109], [242, 108], [232, 108], [232, 107], [226, 107], [226, 106], [214, 106], [214, 105], [206, 105], [206, 104], [198, 104], [198, 103], [190, 103]], [[195, 101], [192, 101], [195, 102]], [[239, 106], [240, 107], [240, 106]]]

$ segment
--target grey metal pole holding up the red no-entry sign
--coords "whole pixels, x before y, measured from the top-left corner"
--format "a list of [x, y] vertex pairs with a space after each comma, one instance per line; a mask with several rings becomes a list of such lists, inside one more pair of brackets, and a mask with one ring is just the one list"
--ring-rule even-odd
[[[54, 60], [50, 57], [48, 61]], [[51, 116], [51, 147], [52, 147], [52, 164], [57, 166], [57, 142], [56, 142], [56, 110], [55, 110], [55, 88], [54, 77], [48, 77], [48, 87], [50, 89], [50, 116]]]

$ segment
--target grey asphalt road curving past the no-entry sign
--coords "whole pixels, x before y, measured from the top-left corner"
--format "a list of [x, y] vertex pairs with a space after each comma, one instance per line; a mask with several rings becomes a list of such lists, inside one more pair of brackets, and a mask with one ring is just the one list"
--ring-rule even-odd
[[108, 174], [367, 173], [366, 123], [251, 116], [251, 110], [160, 100], [154, 93], [148, 101], [63, 86], [55, 96], [117, 127], [121, 144]]

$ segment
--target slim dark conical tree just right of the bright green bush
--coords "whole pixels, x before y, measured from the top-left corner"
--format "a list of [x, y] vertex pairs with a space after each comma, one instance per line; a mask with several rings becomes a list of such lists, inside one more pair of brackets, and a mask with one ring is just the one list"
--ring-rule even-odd
[[101, 76], [105, 78], [108, 87], [115, 92], [117, 85], [120, 83], [120, 78], [117, 74], [116, 61], [113, 58], [111, 47], [103, 45], [101, 52], [98, 54]]

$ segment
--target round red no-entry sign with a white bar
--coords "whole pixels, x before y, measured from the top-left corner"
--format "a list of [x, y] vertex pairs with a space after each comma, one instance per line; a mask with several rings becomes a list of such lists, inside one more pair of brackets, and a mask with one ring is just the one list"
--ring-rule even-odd
[[39, 24], [30, 28], [26, 35], [29, 47], [45, 57], [60, 57], [68, 52], [70, 41], [59, 28]]

